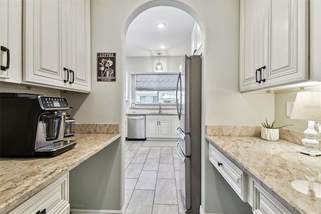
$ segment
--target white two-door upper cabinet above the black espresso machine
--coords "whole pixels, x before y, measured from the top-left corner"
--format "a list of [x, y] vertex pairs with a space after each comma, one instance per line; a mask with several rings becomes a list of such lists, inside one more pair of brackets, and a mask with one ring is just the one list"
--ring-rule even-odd
[[90, 91], [89, 1], [26, 1], [23, 26], [26, 83]]

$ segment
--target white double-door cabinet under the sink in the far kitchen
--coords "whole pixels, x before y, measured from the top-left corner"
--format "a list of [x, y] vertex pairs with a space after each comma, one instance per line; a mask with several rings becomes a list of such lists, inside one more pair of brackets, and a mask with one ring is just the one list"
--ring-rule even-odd
[[169, 115], [146, 115], [146, 138], [171, 138], [171, 124]]

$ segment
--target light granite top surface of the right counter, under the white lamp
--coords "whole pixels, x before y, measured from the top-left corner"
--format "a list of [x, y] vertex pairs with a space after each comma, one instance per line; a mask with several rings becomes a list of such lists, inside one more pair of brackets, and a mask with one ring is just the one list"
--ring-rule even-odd
[[302, 147], [260, 137], [206, 136], [229, 160], [247, 173], [292, 213], [321, 213], [321, 198], [291, 186], [294, 180], [321, 182], [321, 156], [296, 152]]

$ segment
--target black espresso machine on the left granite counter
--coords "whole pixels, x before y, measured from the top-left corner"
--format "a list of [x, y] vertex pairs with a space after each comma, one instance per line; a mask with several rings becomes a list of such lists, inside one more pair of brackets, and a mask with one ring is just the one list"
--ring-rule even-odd
[[0, 93], [0, 156], [51, 157], [73, 148], [64, 141], [65, 97]]

